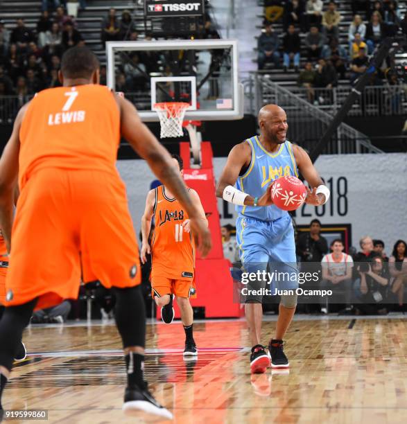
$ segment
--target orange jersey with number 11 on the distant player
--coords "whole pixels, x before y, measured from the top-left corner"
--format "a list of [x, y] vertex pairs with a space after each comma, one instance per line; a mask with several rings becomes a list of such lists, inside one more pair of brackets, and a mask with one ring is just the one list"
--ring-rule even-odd
[[164, 186], [155, 188], [155, 230], [151, 241], [151, 278], [191, 279], [195, 268], [195, 242], [182, 224], [188, 214], [175, 197], [166, 195]]

